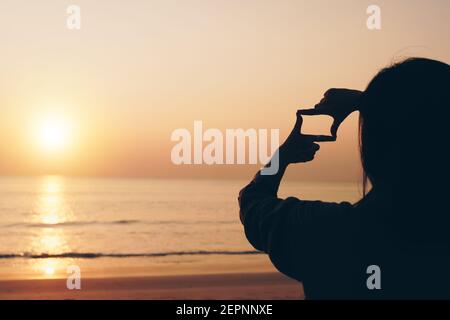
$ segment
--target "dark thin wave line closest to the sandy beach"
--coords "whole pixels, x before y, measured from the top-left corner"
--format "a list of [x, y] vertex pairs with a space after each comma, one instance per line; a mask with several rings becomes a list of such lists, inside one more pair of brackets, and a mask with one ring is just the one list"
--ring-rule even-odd
[[168, 256], [206, 256], [206, 255], [256, 255], [263, 254], [260, 251], [174, 251], [155, 253], [92, 253], [92, 252], [65, 252], [57, 254], [47, 253], [22, 253], [22, 254], [0, 254], [0, 259], [50, 259], [50, 258], [156, 258]]

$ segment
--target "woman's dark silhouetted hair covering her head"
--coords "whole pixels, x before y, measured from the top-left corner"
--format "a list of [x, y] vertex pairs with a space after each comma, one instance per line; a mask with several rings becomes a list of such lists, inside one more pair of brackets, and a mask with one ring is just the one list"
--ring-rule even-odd
[[[360, 109], [360, 152], [364, 194], [411, 175], [439, 174], [439, 156], [450, 131], [450, 66], [410, 58], [381, 70], [363, 93]], [[430, 177], [428, 177], [430, 178]], [[405, 180], [406, 179], [406, 180]]]

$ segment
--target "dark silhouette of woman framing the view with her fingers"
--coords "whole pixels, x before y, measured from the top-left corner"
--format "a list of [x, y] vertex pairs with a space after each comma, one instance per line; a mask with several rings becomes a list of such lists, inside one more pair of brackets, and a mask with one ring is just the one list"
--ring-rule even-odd
[[[258, 173], [240, 192], [248, 240], [303, 282], [309, 299], [450, 298], [449, 110], [450, 66], [424, 58], [381, 70], [364, 92], [328, 90], [314, 109], [297, 112], [278, 173]], [[302, 115], [332, 116], [335, 139], [353, 111], [364, 197], [279, 199], [287, 166], [312, 160], [316, 142], [330, 140], [301, 134]]]

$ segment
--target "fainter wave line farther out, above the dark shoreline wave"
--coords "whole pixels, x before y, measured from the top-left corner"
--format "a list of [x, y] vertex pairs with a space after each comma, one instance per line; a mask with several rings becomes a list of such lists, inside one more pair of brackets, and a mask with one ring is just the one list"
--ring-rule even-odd
[[59, 223], [11, 223], [5, 224], [0, 227], [3, 228], [58, 228], [58, 227], [77, 227], [77, 226], [89, 226], [89, 225], [126, 225], [126, 224], [145, 224], [145, 225], [164, 225], [164, 224], [233, 224], [236, 221], [145, 221], [145, 220], [115, 220], [115, 221], [66, 221]]

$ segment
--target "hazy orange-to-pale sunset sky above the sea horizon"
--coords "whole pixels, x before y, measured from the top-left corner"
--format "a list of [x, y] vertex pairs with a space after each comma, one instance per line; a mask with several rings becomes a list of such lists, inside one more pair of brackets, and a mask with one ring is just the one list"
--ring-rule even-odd
[[[69, 4], [80, 31], [66, 28]], [[366, 28], [370, 4], [381, 31]], [[284, 138], [330, 87], [364, 89], [408, 56], [448, 63], [449, 17], [446, 0], [2, 0], [0, 175], [247, 179], [257, 166], [174, 166], [172, 131], [202, 120]], [[43, 114], [72, 123], [60, 154], [36, 147]], [[360, 179], [357, 115], [288, 174]]]

